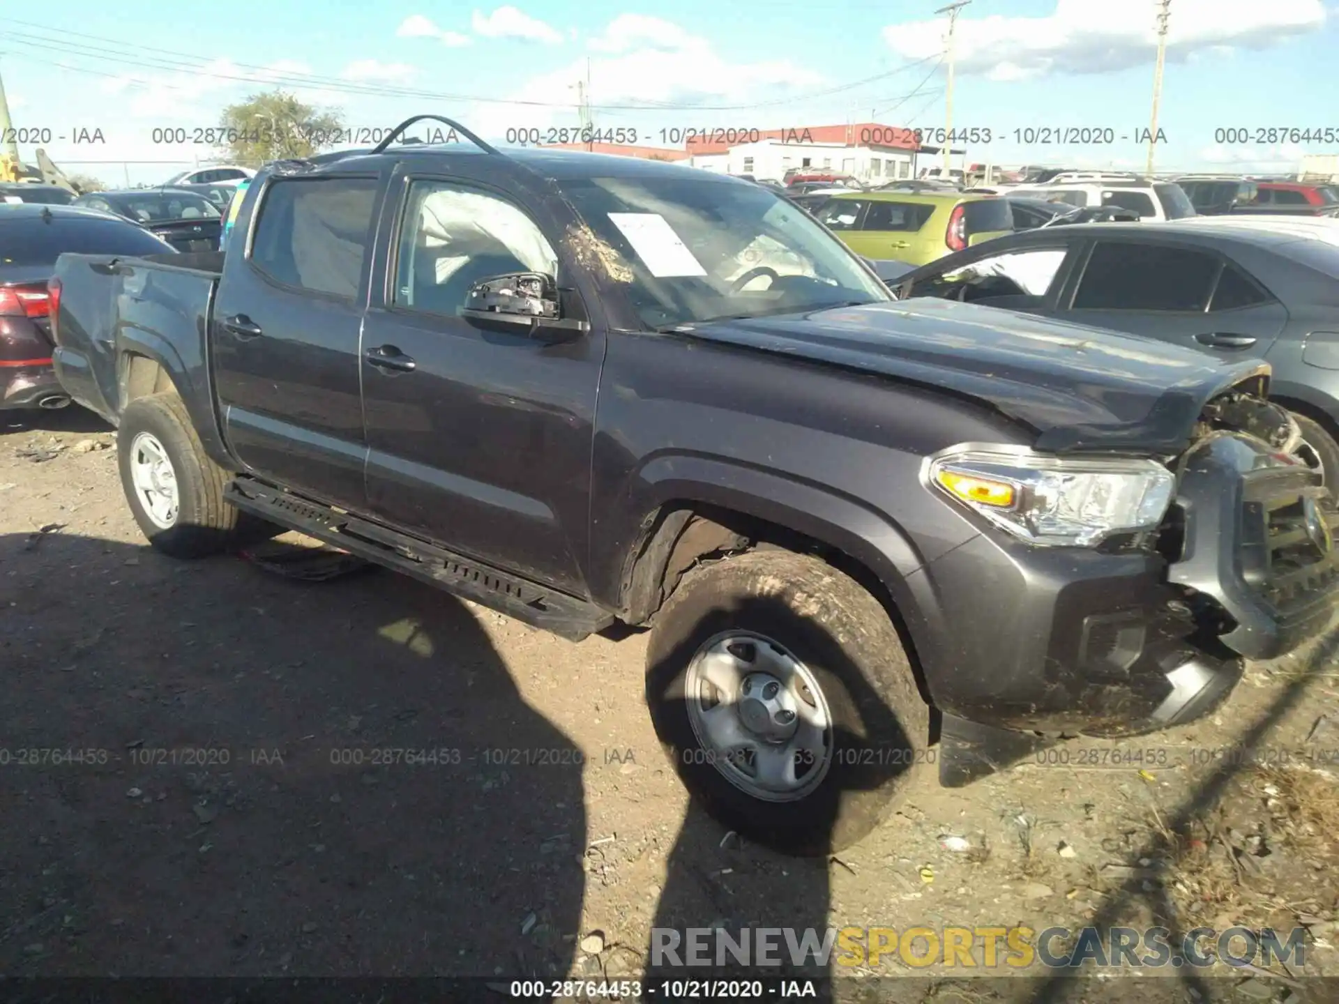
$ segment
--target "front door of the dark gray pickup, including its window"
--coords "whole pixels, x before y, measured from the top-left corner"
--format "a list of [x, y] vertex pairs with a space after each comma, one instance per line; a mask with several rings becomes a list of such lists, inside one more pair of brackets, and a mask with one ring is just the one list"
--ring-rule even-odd
[[[404, 181], [387, 272], [363, 332], [372, 511], [451, 550], [584, 593], [599, 325], [564, 344], [459, 316], [482, 278], [542, 272], [554, 245], [485, 186]], [[570, 293], [576, 296], [574, 293]], [[573, 304], [576, 307], [576, 304]]]

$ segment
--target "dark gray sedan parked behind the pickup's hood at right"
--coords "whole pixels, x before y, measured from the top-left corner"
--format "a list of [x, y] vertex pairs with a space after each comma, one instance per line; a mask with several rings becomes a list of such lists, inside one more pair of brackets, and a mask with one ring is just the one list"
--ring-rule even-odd
[[1002, 237], [917, 269], [939, 296], [1114, 328], [1223, 360], [1263, 357], [1308, 462], [1339, 482], [1339, 221], [1193, 217]]

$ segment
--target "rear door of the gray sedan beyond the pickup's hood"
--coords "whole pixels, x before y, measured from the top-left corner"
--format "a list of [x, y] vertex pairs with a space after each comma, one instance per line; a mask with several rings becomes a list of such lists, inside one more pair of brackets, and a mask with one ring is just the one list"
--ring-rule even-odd
[[1058, 316], [1231, 356], [1263, 356], [1288, 312], [1237, 262], [1198, 246], [1097, 240]]

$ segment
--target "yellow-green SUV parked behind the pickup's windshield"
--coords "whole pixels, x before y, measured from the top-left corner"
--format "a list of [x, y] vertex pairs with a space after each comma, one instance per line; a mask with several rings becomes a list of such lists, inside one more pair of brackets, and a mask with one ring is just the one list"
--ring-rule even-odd
[[913, 265], [1014, 230], [1004, 199], [959, 191], [862, 191], [833, 195], [814, 218], [866, 258]]

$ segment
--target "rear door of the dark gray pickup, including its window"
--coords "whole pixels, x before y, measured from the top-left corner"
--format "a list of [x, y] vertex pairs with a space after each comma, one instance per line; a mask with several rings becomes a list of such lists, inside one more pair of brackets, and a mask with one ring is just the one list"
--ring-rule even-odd
[[362, 509], [359, 335], [380, 182], [269, 178], [212, 313], [225, 434], [248, 469]]

